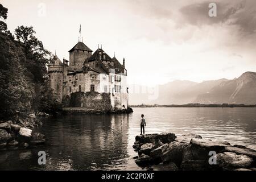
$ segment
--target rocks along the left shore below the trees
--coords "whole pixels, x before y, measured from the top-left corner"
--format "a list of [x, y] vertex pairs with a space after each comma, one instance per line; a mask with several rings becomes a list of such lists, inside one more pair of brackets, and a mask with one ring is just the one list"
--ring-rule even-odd
[[43, 134], [34, 133], [31, 129], [42, 125], [37, 117], [45, 117], [48, 114], [27, 115], [26, 119], [19, 117], [14, 121], [0, 121], [0, 151], [24, 149], [43, 144], [46, 141]]

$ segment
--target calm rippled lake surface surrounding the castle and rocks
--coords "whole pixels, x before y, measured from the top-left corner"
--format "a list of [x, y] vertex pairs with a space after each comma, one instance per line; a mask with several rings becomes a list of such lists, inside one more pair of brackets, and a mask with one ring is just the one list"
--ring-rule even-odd
[[[199, 134], [256, 150], [256, 108], [133, 108], [129, 115], [61, 115], [44, 118], [35, 129], [47, 137], [44, 146], [30, 150], [0, 151], [1, 170], [142, 170], [133, 157], [140, 116], [146, 134], [172, 132]], [[38, 165], [38, 151], [47, 164]]]

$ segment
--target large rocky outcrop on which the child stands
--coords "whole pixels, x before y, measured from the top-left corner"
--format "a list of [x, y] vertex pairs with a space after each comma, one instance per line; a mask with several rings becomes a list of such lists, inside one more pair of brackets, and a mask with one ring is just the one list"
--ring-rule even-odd
[[256, 151], [241, 145], [174, 133], [135, 137], [138, 166], [160, 171], [256, 171]]

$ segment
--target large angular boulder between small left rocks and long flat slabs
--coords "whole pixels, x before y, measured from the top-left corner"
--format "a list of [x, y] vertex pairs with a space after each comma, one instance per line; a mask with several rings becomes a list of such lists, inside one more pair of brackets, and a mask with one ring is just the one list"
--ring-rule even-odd
[[174, 162], [179, 167], [182, 162], [184, 148], [187, 146], [186, 143], [171, 142], [161, 155], [163, 162]]

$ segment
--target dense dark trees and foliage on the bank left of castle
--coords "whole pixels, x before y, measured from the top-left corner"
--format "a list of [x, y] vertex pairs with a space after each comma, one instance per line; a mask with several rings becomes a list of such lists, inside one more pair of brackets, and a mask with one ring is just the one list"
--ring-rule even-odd
[[5, 23], [7, 13], [0, 4], [0, 119], [19, 112], [55, 110], [59, 105], [47, 74], [52, 55], [35, 37], [33, 27], [19, 26], [11, 34]]

